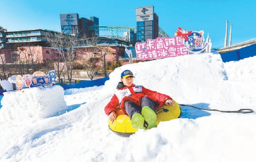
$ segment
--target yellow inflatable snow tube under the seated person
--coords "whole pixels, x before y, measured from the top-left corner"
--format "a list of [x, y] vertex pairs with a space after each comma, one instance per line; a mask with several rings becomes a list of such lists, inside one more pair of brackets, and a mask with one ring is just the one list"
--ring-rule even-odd
[[[159, 109], [155, 109], [155, 113], [157, 114], [157, 124], [159, 124], [161, 121], [169, 121], [171, 119], [179, 118], [181, 115], [181, 108], [176, 101], [174, 101], [174, 103], [174, 106], [164, 105]], [[116, 114], [118, 116], [113, 123], [108, 121], [108, 126], [111, 131], [125, 137], [128, 137], [137, 131], [137, 129], [131, 126], [131, 119], [129, 116], [124, 114], [119, 107], [116, 109]]]

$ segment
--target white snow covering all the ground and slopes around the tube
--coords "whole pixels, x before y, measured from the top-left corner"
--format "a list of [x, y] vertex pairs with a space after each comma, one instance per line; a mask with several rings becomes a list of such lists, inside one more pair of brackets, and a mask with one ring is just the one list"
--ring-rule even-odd
[[204, 53], [126, 64], [104, 86], [60, 86], [4, 93], [0, 161], [256, 161], [256, 114], [181, 106], [179, 119], [122, 138], [108, 128], [104, 106], [130, 69], [135, 83], [204, 109], [255, 110], [256, 56], [223, 63]]

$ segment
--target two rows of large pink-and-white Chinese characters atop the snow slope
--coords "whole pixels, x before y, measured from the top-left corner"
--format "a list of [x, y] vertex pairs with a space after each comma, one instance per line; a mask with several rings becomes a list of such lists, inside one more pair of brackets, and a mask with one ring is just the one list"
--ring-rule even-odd
[[189, 54], [181, 36], [147, 39], [147, 43], [135, 44], [137, 60], [171, 58]]

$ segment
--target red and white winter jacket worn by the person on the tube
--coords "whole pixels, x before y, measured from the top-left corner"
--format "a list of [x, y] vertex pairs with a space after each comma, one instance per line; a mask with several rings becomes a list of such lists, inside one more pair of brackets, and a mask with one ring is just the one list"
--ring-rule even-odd
[[120, 106], [123, 113], [126, 113], [125, 101], [132, 101], [140, 106], [140, 102], [144, 96], [147, 96], [157, 103], [157, 107], [155, 107], [155, 109], [160, 108], [167, 99], [172, 99], [166, 94], [151, 91], [150, 89], [144, 88], [143, 86], [136, 86], [135, 84], [128, 87], [125, 86], [123, 82], [120, 82], [116, 89], [118, 89], [118, 91], [112, 96], [111, 101], [109, 101], [105, 107], [105, 113], [107, 115], [112, 111], [116, 111], [118, 106]]

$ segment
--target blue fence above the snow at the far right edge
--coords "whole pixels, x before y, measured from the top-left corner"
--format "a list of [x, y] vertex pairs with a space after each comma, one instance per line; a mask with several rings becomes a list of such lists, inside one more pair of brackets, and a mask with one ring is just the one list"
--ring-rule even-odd
[[252, 44], [245, 48], [240, 48], [235, 51], [220, 54], [224, 63], [229, 61], [239, 61], [240, 59], [256, 56], [256, 44]]

